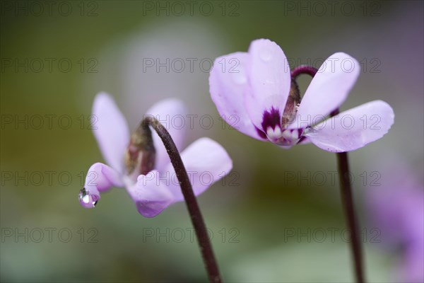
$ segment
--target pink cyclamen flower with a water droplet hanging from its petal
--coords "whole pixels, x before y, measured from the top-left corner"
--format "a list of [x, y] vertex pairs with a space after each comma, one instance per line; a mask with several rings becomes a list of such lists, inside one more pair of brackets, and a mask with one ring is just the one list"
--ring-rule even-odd
[[[124, 115], [106, 93], [99, 93], [95, 97], [93, 115], [97, 117], [93, 133], [110, 166], [94, 163], [88, 170], [86, 183], [79, 195], [83, 207], [94, 207], [100, 199], [100, 192], [111, 187], [126, 187], [139, 213], [146, 217], [156, 216], [170, 204], [184, 200], [174, 168], [158, 134], [152, 131], [156, 151], [153, 170], [146, 175], [139, 173], [137, 169], [140, 168], [129, 173], [124, 165], [124, 155], [129, 146], [130, 133]], [[172, 120], [175, 115], [184, 117], [184, 105], [175, 99], [162, 100], [153, 105], [146, 115], [152, 115], [159, 121]], [[168, 127], [168, 132], [180, 149], [183, 129]], [[200, 195], [232, 169], [232, 160], [225, 149], [208, 138], [194, 141], [182, 151], [181, 157], [195, 195]]]

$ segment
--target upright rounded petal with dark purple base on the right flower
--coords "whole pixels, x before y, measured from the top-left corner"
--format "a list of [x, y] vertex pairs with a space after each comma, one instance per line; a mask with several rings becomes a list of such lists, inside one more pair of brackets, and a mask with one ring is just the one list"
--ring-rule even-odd
[[249, 47], [247, 112], [254, 125], [265, 133], [281, 127], [281, 118], [290, 91], [290, 68], [281, 48], [271, 40], [254, 40]]

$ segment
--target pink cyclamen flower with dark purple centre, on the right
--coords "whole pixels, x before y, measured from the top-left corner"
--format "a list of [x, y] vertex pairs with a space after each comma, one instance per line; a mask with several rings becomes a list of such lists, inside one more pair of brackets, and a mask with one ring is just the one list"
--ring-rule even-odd
[[348, 54], [326, 59], [301, 100], [287, 63], [283, 50], [265, 39], [254, 40], [249, 52], [218, 57], [209, 86], [223, 119], [243, 134], [284, 148], [312, 142], [332, 152], [359, 149], [393, 125], [394, 112], [382, 100], [329, 117], [360, 73]]

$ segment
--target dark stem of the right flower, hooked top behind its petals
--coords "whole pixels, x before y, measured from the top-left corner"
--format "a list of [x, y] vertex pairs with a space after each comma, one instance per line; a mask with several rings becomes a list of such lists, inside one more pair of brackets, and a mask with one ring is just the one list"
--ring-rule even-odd
[[[300, 65], [291, 71], [292, 79], [296, 79], [300, 74], [309, 74], [314, 77], [317, 74], [318, 69], [308, 66]], [[335, 109], [330, 113], [331, 116], [337, 115], [338, 109]], [[351, 180], [349, 176], [349, 163], [348, 153], [341, 152], [337, 153], [338, 163], [338, 175], [340, 175], [340, 188], [341, 188], [341, 199], [345, 214], [348, 219], [348, 226], [351, 229], [351, 249], [353, 252], [353, 262], [355, 265], [355, 277], [356, 282], [365, 282], [364, 271], [363, 271], [363, 255], [362, 247], [360, 244], [360, 237], [358, 236], [358, 221], [355, 216], [355, 206], [353, 205]]]

